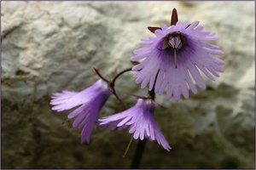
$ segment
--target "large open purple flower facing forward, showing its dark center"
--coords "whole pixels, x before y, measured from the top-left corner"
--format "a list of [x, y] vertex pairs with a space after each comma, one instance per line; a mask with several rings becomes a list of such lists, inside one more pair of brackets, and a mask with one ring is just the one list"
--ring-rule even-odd
[[189, 98], [189, 88], [197, 93], [189, 74], [202, 89], [206, 84], [199, 70], [212, 81], [215, 80], [213, 76], [219, 77], [218, 72], [223, 72], [219, 65], [224, 65], [224, 61], [213, 54], [222, 55], [224, 52], [218, 46], [205, 42], [218, 37], [202, 31], [203, 26], [198, 24], [199, 21], [190, 25], [189, 22], [182, 24], [177, 21], [170, 27], [151, 27], [156, 37], [142, 39], [140, 44], [143, 48], [135, 50], [135, 56], [131, 57], [131, 61], [144, 59], [132, 68], [138, 71], [136, 83], [141, 83], [141, 88], [149, 83], [148, 90], [154, 88], [155, 93], [163, 94], [166, 89], [166, 98], [171, 99], [173, 95], [178, 101], [181, 94], [185, 99]]

